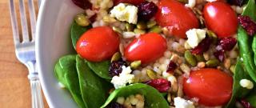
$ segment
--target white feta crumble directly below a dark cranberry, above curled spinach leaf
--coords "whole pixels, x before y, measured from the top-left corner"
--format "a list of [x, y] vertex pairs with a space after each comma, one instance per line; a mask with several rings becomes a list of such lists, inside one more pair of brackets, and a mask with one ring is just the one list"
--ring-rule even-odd
[[119, 76], [114, 76], [111, 80], [111, 83], [114, 84], [114, 88], [118, 89], [123, 86], [126, 86], [126, 83], [132, 83], [134, 82], [134, 74], [130, 74], [132, 70], [130, 69], [130, 66], [122, 66], [122, 73], [119, 74]]

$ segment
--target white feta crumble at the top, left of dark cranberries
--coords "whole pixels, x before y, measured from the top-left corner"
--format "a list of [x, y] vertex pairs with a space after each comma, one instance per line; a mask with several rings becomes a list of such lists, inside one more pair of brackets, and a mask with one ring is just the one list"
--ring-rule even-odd
[[110, 16], [115, 17], [122, 22], [129, 22], [136, 24], [138, 21], [138, 7], [126, 6], [124, 3], [119, 3], [118, 6], [114, 6], [110, 11]]

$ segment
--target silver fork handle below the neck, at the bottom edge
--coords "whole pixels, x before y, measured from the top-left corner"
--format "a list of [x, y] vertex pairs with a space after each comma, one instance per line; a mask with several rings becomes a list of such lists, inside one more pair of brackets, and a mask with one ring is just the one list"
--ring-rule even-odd
[[44, 108], [38, 73], [30, 73], [28, 78], [30, 79], [32, 108]]

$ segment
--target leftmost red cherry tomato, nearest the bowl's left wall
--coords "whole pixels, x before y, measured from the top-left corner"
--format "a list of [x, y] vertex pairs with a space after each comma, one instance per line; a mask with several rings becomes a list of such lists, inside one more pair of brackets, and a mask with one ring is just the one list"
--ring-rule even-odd
[[87, 30], [79, 38], [76, 50], [82, 58], [92, 62], [101, 62], [118, 51], [120, 39], [117, 33], [108, 26]]

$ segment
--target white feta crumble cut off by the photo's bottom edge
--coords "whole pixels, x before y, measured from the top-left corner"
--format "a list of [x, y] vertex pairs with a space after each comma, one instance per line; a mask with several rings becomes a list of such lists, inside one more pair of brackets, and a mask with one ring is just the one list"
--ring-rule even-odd
[[195, 108], [194, 102], [180, 97], [174, 98], [174, 106], [175, 108]]

